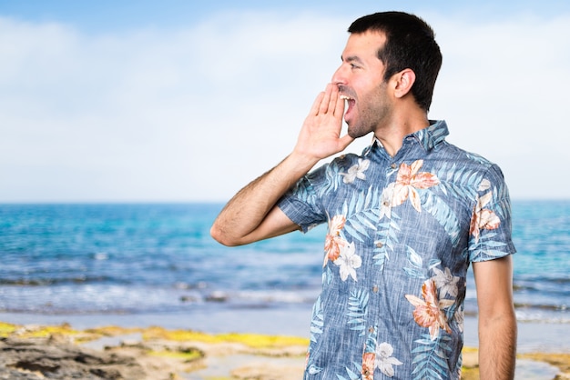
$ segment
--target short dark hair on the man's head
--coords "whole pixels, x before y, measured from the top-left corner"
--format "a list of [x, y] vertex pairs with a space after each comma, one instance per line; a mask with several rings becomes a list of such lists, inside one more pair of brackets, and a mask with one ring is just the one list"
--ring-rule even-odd
[[412, 69], [416, 75], [412, 95], [422, 109], [430, 109], [433, 87], [442, 66], [442, 53], [430, 25], [416, 15], [382, 12], [359, 18], [348, 31], [384, 33], [386, 43], [378, 50], [378, 58], [386, 65], [384, 80], [403, 69]]

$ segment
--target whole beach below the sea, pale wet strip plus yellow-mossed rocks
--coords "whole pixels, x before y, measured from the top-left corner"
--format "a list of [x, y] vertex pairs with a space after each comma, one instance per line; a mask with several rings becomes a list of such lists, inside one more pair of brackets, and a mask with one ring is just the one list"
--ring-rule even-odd
[[[309, 342], [308, 311], [290, 307], [220, 311], [202, 318], [171, 314], [0, 314], [0, 320], [0, 379], [42, 378], [29, 373], [29, 368], [47, 371], [49, 378], [67, 378], [54, 377], [53, 370], [59, 367], [62, 374], [69, 375], [64, 372], [67, 367], [66, 371], [87, 371], [84, 376], [103, 374], [94, 379], [292, 380], [302, 377]], [[519, 323], [515, 378], [570, 378], [570, 343], [564, 338], [569, 331], [567, 324]], [[36, 355], [36, 359], [29, 353], [24, 357], [5, 355], [15, 347], [25, 352], [23, 346], [30, 352], [49, 353], [59, 359], [46, 365], [43, 355]], [[478, 378], [476, 347], [476, 318], [467, 317], [464, 379]], [[85, 355], [90, 359], [79, 360], [90, 362], [88, 368], [70, 359]], [[2, 377], [1, 371], [6, 368], [27, 377]]]

